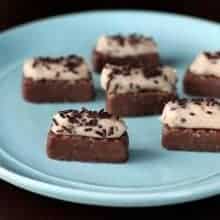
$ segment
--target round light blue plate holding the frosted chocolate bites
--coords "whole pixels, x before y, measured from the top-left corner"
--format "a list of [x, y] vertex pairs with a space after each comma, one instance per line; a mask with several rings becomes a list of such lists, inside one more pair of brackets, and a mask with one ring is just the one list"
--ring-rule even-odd
[[156, 206], [220, 192], [220, 154], [166, 151], [159, 117], [126, 118], [130, 159], [126, 164], [50, 160], [45, 139], [51, 116], [85, 104], [29, 104], [21, 97], [22, 63], [32, 56], [80, 54], [90, 60], [103, 33], [143, 33], [159, 44], [164, 63], [177, 68], [179, 93], [187, 65], [201, 50], [219, 49], [220, 26], [165, 13], [91, 12], [34, 22], [0, 34], [0, 177], [14, 185], [62, 200], [107, 206]]

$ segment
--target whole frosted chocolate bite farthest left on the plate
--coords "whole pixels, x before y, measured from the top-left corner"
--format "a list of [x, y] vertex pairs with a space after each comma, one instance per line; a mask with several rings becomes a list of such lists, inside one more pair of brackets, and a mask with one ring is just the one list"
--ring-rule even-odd
[[29, 59], [23, 71], [22, 93], [29, 102], [83, 102], [94, 97], [91, 73], [79, 56]]

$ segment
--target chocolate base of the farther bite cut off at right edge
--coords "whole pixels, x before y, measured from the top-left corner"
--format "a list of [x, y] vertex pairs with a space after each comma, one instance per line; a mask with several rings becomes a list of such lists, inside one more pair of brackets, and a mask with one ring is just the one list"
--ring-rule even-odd
[[198, 76], [188, 71], [184, 78], [184, 91], [193, 96], [220, 98], [220, 78]]

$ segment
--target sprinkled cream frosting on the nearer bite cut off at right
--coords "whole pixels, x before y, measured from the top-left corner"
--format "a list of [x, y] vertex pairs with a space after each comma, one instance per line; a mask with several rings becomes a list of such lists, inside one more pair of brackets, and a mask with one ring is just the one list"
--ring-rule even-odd
[[178, 102], [169, 102], [164, 107], [161, 120], [172, 128], [220, 129], [220, 105], [188, 101], [181, 106]]

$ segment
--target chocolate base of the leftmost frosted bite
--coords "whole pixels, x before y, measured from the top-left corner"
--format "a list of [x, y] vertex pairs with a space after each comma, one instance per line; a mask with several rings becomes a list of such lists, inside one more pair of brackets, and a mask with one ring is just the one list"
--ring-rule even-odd
[[22, 93], [29, 102], [85, 102], [94, 97], [90, 80], [78, 80], [71, 84], [66, 80], [33, 81], [23, 78]]

